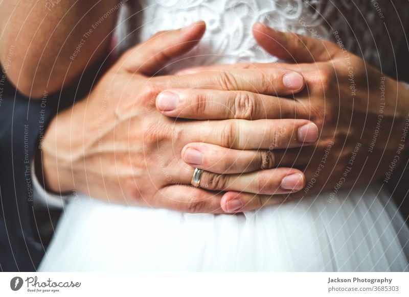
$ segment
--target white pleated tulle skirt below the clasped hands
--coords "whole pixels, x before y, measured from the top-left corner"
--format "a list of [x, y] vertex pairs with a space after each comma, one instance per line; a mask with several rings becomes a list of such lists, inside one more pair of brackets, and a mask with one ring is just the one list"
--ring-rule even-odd
[[240, 215], [127, 207], [82, 196], [40, 271], [407, 271], [409, 231], [387, 192], [328, 194]]

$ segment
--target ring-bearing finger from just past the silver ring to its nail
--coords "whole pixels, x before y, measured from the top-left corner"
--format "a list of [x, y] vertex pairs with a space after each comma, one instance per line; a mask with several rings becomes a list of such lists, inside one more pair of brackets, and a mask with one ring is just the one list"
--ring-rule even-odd
[[199, 186], [212, 191], [243, 191], [277, 195], [304, 188], [302, 171], [294, 168], [272, 168], [244, 174], [215, 174], [203, 171]]

